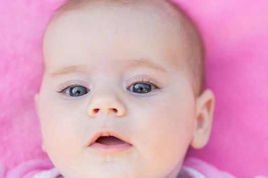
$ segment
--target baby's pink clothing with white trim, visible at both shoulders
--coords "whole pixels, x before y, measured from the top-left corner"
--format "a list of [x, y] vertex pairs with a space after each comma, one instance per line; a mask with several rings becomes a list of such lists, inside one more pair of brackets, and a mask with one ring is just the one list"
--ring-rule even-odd
[[[60, 172], [49, 159], [36, 159], [21, 163], [11, 170], [0, 164], [0, 178], [60, 178]], [[218, 170], [216, 167], [197, 158], [186, 158], [178, 178], [235, 178], [228, 172]]]

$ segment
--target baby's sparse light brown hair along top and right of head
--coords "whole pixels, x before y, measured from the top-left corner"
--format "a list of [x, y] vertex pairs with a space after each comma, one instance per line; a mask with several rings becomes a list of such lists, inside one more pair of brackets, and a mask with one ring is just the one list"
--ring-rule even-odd
[[[190, 56], [187, 56], [187, 61], [190, 66], [190, 72], [192, 74], [192, 86], [193, 92], [195, 96], [199, 96], [203, 91], [204, 84], [204, 45], [201, 35], [198, 31], [197, 26], [192, 22], [192, 20], [188, 17], [188, 15], [176, 4], [170, 2], [169, 0], [67, 0], [62, 6], [56, 9], [56, 13], [53, 19], [61, 16], [65, 12], [80, 10], [80, 9], [90, 9], [96, 6], [105, 5], [107, 7], [116, 5], [117, 7], [124, 7], [134, 4], [139, 4], [140, 2], [148, 3], [148, 2], [163, 2], [164, 6], [157, 6], [158, 9], [169, 8], [173, 9], [177, 12], [177, 16], [181, 21], [180, 29], [184, 34], [186, 34], [185, 43], [183, 44], [184, 50], [185, 48], [189, 50]], [[163, 11], [164, 12], [164, 11]], [[156, 12], [157, 13], [157, 12]], [[164, 12], [166, 13], [166, 12]], [[174, 16], [174, 14], [172, 14]], [[176, 37], [176, 36], [175, 36]], [[187, 42], [187, 43], [186, 43]]]

